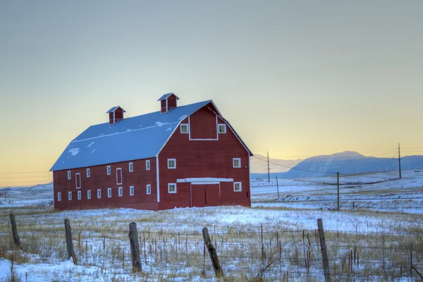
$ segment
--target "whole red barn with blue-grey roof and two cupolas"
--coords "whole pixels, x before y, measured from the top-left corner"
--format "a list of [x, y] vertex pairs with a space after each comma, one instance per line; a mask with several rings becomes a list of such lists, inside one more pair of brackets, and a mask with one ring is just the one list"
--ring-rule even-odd
[[250, 207], [250, 156], [212, 100], [177, 106], [164, 94], [161, 111], [92, 125], [54, 166], [55, 209]]

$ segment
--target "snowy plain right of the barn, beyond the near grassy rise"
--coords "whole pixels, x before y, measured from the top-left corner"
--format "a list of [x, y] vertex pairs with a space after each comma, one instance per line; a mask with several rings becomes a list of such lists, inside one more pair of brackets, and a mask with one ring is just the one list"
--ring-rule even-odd
[[[336, 209], [335, 177], [252, 180], [253, 207]], [[278, 198], [279, 188], [279, 198]], [[341, 209], [423, 213], [423, 171], [340, 176]]]

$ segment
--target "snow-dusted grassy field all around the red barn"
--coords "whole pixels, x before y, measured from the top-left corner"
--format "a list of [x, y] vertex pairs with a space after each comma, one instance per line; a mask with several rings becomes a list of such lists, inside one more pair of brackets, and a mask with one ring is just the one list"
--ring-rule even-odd
[[[400, 180], [396, 172], [341, 175], [340, 183], [340, 212], [333, 177], [279, 179], [279, 198], [276, 180], [252, 180], [252, 208], [161, 212], [56, 212], [51, 184], [0, 189], [0, 281], [11, 280], [12, 261], [20, 281], [214, 281], [204, 226], [228, 281], [324, 281], [317, 219], [324, 222], [333, 280], [412, 281], [410, 251], [416, 269], [423, 268], [423, 172], [403, 171]], [[12, 251], [10, 212], [23, 251]], [[66, 257], [66, 218], [78, 265]], [[130, 268], [132, 221], [140, 233], [142, 274]]]

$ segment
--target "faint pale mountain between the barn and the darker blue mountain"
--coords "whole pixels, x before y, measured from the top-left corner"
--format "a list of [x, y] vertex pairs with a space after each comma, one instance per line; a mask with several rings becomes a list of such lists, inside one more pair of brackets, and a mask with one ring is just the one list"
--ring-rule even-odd
[[[280, 173], [289, 171], [290, 168], [299, 164], [302, 159], [272, 159], [269, 158], [271, 162], [272, 173]], [[255, 154], [254, 157], [250, 159], [251, 163], [251, 173], [267, 173], [267, 157], [262, 156], [261, 154]]]

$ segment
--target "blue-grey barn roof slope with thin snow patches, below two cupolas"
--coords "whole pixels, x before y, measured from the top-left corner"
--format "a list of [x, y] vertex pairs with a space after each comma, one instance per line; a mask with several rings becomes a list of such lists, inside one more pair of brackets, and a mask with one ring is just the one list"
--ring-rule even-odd
[[50, 171], [156, 157], [179, 123], [210, 102], [92, 125], [66, 147]]

